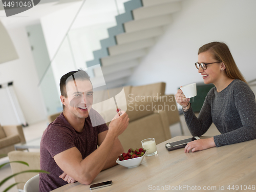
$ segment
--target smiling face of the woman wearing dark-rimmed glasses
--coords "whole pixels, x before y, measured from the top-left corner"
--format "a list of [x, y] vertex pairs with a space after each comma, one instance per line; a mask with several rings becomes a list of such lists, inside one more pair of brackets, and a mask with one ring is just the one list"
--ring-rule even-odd
[[[217, 62], [217, 63], [212, 63], [212, 62]], [[198, 70], [198, 73], [201, 73], [205, 84], [218, 83], [218, 81], [222, 76], [222, 73], [221, 73], [221, 70], [223, 69], [222, 62], [218, 62], [218, 60], [214, 58], [214, 56], [211, 54], [210, 51], [205, 51], [205, 52], [199, 53], [198, 63], [205, 63], [205, 64], [212, 63], [207, 65], [206, 70], [203, 70], [200, 67]]]

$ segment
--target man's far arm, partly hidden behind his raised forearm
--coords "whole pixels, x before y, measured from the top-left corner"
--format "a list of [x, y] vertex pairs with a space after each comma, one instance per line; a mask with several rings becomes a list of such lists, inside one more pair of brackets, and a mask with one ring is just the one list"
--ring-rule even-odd
[[[104, 141], [107, 134], [108, 134], [108, 131], [104, 131], [104, 132], [101, 132], [100, 134], [98, 134], [98, 146], [101, 145], [101, 143]], [[104, 167], [102, 168], [102, 170], [115, 166], [117, 164], [116, 163], [117, 157], [120, 154], [122, 154], [123, 152], [124, 152], [123, 146], [122, 146], [120, 140], [117, 138], [112, 147], [112, 151], [109, 154], [109, 157], [106, 160], [106, 163], [105, 163]]]

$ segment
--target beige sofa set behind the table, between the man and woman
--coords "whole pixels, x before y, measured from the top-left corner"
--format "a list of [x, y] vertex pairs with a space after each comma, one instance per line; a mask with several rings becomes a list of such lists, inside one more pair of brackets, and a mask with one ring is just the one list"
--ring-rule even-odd
[[[169, 125], [180, 123], [180, 118], [175, 96], [165, 95], [165, 86], [164, 82], [158, 82], [108, 90], [94, 89], [93, 108], [106, 120], [107, 125], [116, 115], [113, 96], [118, 108], [129, 115], [129, 125], [118, 137], [125, 151], [141, 147], [141, 140], [146, 138], [154, 137], [158, 144], [172, 137]], [[49, 116], [49, 122], [59, 114]]]

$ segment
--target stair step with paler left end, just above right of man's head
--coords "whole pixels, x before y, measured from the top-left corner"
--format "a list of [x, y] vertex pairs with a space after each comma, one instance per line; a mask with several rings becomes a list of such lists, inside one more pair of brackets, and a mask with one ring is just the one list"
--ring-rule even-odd
[[108, 74], [114, 75], [116, 72], [119, 72], [119, 71], [122, 71], [125, 69], [134, 68], [138, 65], [139, 65], [138, 59], [129, 60], [129, 61], [121, 62], [121, 63], [116, 63], [111, 66], [95, 68], [94, 74], [95, 74], [95, 76], [101, 76], [102, 74], [103, 74], [103, 76], [108, 75]]

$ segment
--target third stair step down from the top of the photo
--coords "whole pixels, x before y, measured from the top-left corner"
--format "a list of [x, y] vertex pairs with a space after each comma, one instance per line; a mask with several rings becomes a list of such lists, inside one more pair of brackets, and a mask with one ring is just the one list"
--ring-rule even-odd
[[144, 29], [164, 26], [170, 23], [172, 23], [172, 15], [167, 14], [140, 20], [132, 20], [131, 22], [127, 22], [124, 24], [124, 29], [126, 33], [130, 33]]

